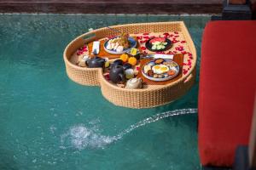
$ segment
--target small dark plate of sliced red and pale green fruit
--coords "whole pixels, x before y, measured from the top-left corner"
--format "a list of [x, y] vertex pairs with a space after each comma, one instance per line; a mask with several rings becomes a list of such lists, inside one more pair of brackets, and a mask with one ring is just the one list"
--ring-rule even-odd
[[148, 39], [145, 46], [148, 50], [153, 52], [166, 51], [171, 48], [172, 41], [165, 37], [154, 37]]

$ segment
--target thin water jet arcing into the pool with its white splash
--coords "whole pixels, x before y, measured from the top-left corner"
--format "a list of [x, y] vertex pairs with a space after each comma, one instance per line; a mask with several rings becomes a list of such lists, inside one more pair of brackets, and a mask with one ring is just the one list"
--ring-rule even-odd
[[197, 113], [197, 109], [190, 108], [159, 113], [154, 116], [149, 116], [148, 118], [143, 119], [143, 121], [137, 122], [130, 127], [125, 128], [125, 130], [114, 136], [105, 136], [98, 133], [99, 129], [96, 126], [85, 127], [83, 124], [75, 125], [70, 127], [67, 133], [61, 135], [61, 149], [70, 147], [78, 150], [83, 150], [86, 148], [104, 148], [108, 144], [122, 139], [125, 134], [131, 133], [131, 131], [137, 129], [138, 127], [143, 127], [151, 122], [157, 122], [169, 116], [180, 116], [193, 113]]

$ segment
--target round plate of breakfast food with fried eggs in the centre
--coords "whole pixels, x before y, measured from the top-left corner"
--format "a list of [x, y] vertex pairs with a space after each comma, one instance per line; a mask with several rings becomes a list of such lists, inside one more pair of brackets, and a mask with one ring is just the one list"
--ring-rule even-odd
[[153, 59], [143, 65], [142, 73], [155, 82], [167, 81], [177, 77], [179, 66], [172, 59]]

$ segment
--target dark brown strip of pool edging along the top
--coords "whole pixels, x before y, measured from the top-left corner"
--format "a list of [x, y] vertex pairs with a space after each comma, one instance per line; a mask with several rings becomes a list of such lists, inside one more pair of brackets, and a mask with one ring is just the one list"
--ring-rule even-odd
[[220, 14], [222, 0], [0, 0], [0, 13]]

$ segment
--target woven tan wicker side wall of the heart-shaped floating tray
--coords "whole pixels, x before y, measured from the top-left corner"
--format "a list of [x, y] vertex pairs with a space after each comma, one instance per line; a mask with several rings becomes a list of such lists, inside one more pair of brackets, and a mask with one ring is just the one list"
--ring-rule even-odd
[[[86, 68], [75, 65], [72, 62], [73, 54], [84, 43], [110, 37], [116, 32], [104, 27], [94, 31], [87, 32], [67, 45], [64, 51], [64, 61], [66, 65], [67, 76], [74, 82], [85, 86], [99, 86], [102, 89], [102, 95], [114, 105], [130, 108], [150, 108], [158, 105], [165, 105], [185, 94], [195, 82], [195, 63], [196, 51], [195, 45], [189, 35], [189, 31], [183, 21], [177, 22], [157, 22], [112, 26], [119, 31], [137, 34], [137, 32], [170, 32], [179, 31], [183, 35], [189, 52], [193, 55], [192, 65], [182, 77], [175, 82], [166, 85], [148, 85], [142, 89], [119, 88], [108, 82], [103, 76], [102, 68]], [[187, 60], [184, 57], [184, 62]], [[186, 66], [184, 66], [186, 67]]]

